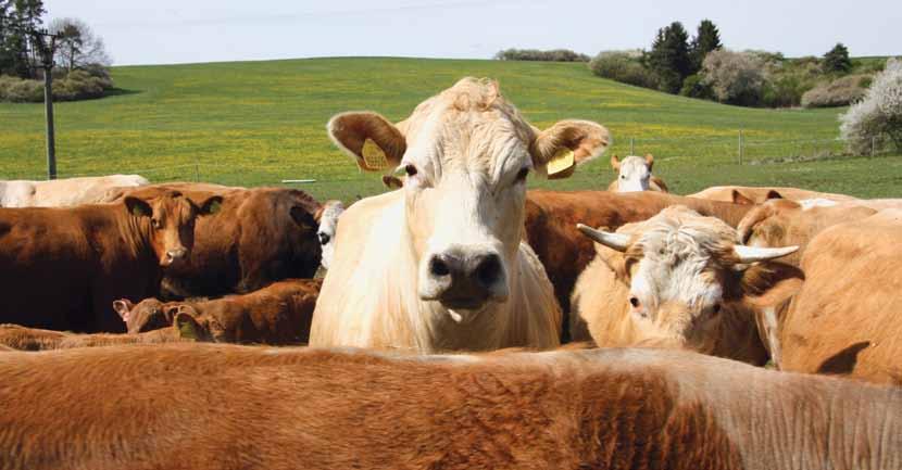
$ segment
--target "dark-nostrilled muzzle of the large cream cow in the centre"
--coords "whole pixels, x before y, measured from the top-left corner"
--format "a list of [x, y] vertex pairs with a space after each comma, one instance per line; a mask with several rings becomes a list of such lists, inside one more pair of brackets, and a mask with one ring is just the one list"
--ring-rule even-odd
[[426, 258], [419, 297], [452, 310], [474, 310], [508, 300], [508, 277], [498, 253], [448, 251]]

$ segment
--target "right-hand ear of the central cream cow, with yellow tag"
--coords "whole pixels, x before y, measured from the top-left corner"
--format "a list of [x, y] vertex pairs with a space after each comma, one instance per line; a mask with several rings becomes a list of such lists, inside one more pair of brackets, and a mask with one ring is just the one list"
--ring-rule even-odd
[[529, 147], [533, 164], [551, 179], [567, 178], [576, 165], [604, 153], [611, 134], [604, 126], [589, 120], [560, 120], [536, 136]]

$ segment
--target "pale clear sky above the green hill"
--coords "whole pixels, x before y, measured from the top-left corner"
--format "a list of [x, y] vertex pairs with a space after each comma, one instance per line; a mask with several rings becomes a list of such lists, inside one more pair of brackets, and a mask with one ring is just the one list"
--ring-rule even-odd
[[710, 18], [729, 49], [902, 54], [899, 0], [45, 0], [116, 65], [340, 55], [490, 59], [508, 48], [648, 49], [657, 28]]

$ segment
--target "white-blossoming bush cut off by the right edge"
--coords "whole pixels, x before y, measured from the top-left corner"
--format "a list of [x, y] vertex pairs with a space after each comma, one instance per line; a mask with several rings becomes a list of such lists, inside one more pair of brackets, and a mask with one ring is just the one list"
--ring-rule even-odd
[[890, 141], [902, 150], [902, 60], [890, 59], [862, 101], [840, 116], [840, 135], [856, 154]]

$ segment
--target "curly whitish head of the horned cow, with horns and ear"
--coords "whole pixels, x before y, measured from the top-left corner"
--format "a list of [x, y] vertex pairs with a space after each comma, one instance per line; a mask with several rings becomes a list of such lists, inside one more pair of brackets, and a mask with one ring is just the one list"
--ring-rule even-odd
[[[779, 277], [765, 277], [754, 263], [785, 256], [797, 246], [749, 247], [736, 244], [736, 231], [713, 217], [672, 206], [617, 232], [580, 225], [579, 230], [611, 250], [599, 256], [628, 285], [626, 298], [635, 325], [651, 339], [711, 353], [725, 315], [738, 304], [762, 303], [775, 289], [795, 289]], [[794, 292], [794, 291], [791, 291]], [[775, 302], [782, 302], [785, 296]], [[769, 297], [768, 297], [769, 298]], [[752, 318], [749, 318], [751, 321]]]

